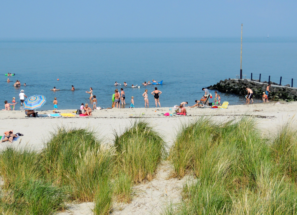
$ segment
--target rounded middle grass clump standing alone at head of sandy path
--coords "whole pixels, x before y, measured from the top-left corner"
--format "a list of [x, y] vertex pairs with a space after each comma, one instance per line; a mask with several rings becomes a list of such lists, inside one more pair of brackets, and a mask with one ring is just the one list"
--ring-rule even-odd
[[115, 134], [118, 169], [134, 183], [152, 180], [165, 153], [165, 142], [148, 123], [138, 121], [122, 135]]

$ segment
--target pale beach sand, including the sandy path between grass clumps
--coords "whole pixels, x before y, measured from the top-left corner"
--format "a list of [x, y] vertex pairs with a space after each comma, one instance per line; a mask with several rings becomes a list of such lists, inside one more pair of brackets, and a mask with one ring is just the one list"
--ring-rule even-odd
[[[187, 108], [187, 116], [158, 116], [159, 113], [170, 112], [169, 107], [162, 108], [135, 108], [135, 109], [109, 109], [95, 110], [92, 117], [45, 117], [31, 118], [25, 117], [24, 111], [0, 111], [0, 135], [3, 132], [13, 130], [14, 133], [22, 133], [23, 137], [18, 141], [9, 144], [2, 143], [0, 149], [7, 145], [15, 147], [32, 146], [40, 150], [43, 142], [48, 140], [50, 133], [58, 127], [66, 126], [70, 128], [94, 129], [98, 132], [98, 137], [104, 137], [106, 143], [112, 143], [113, 133], [121, 132], [126, 126], [131, 125], [138, 117], [146, 119], [163, 136], [169, 146], [172, 145], [177, 129], [183, 122], [188, 122], [198, 116], [213, 116], [218, 122], [232, 120], [241, 115], [253, 116], [258, 119], [258, 126], [261, 131], [268, 136], [277, 133], [278, 127], [289, 120], [296, 125], [294, 120], [297, 111], [297, 103], [256, 103], [250, 105], [234, 105], [227, 109], [201, 109]], [[75, 110], [58, 110], [61, 113], [71, 113]], [[156, 111], [156, 112], [155, 112]], [[52, 113], [51, 111], [38, 111], [39, 114]], [[142, 113], [145, 115], [141, 115]], [[171, 111], [172, 112], [172, 111]], [[170, 113], [171, 113], [170, 112]], [[132, 115], [133, 114], [133, 115]], [[130, 116], [131, 115], [131, 116]], [[113, 214], [158, 214], [161, 212], [163, 202], [177, 202], [180, 200], [180, 189], [183, 180], [166, 180], [170, 171], [170, 164], [164, 162], [157, 171], [153, 181], [137, 185], [133, 188], [136, 195], [132, 203], [122, 205], [114, 203]], [[83, 203], [71, 205], [69, 211], [61, 214], [91, 214], [93, 203]]]

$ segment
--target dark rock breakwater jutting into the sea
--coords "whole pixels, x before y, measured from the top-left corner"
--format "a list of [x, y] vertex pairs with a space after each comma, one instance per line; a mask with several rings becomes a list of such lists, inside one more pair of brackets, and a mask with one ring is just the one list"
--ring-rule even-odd
[[[218, 90], [223, 93], [232, 93], [236, 95], [247, 95], [246, 87], [251, 88], [254, 96], [260, 98], [266, 91], [268, 83], [251, 81], [248, 79], [225, 79], [215, 85], [207, 87], [210, 90]], [[269, 99], [278, 101], [285, 100], [287, 102], [297, 101], [297, 88], [289, 86], [278, 86], [271, 84], [269, 90]]]

